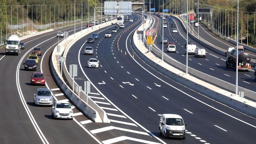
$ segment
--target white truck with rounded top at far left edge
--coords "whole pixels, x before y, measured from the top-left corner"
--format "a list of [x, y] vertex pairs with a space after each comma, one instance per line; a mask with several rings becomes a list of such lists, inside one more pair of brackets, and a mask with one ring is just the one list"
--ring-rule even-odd
[[17, 35], [11, 35], [8, 40], [4, 42], [6, 45], [5, 47], [5, 54], [15, 54], [19, 55], [20, 54], [20, 41], [19, 37]]

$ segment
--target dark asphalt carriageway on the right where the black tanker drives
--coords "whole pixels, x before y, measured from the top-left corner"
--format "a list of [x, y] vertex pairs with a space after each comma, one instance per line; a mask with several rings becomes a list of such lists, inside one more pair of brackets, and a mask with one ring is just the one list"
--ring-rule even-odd
[[[154, 43], [154, 47], [162, 49], [161, 44], [161, 35], [162, 35], [162, 21], [160, 18], [153, 16], [155, 21], [155, 26], [157, 22], [158, 30], [157, 38]], [[171, 27], [171, 24], [175, 23], [175, 27]], [[173, 20], [167, 19], [168, 28], [164, 28], [164, 38], [168, 39], [168, 42], [175, 42], [177, 53], [167, 53], [167, 45], [164, 44], [164, 53], [170, 56], [171, 58], [179, 61], [180, 63], [186, 65], [186, 54], [185, 54], [185, 42], [186, 42], [186, 31], [182, 29], [181, 23], [177, 20], [176, 17], [173, 17]], [[173, 29], [178, 29], [178, 33], [172, 33]], [[211, 49], [200, 45], [198, 42], [194, 41], [191, 37], [189, 37], [189, 41], [191, 41], [194, 45], [199, 48], [203, 48], [207, 52], [206, 58], [195, 58], [194, 55], [188, 55], [188, 66], [198, 70], [200, 72], [204, 72], [218, 79], [222, 79], [229, 83], [235, 85], [235, 72], [231, 69], [228, 69], [225, 65], [226, 57], [224, 55], [217, 54]], [[215, 45], [218, 46], [220, 42], [216, 41]], [[224, 54], [224, 52], [223, 52]], [[240, 71], [238, 72], [238, 86], [243, 88], [255, 91], [256, 82], [254, 79], [254, 68], [252, 68], [251, 72]]]

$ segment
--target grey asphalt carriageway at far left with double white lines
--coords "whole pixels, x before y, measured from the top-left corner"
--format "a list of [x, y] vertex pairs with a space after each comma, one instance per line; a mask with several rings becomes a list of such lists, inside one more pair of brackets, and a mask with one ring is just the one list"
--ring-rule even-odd
[[[86, 27], [83, 26], [83, 29]], [[74, 33], [74, 27], [61, 29]], [[77, 27], [76, 31], [81, 30]], [[1, 109], [0, 122], [1, 143], [97, 143], [81, 124], [75, 120], [53, 120], [51, 107], [35, 106], [33, 93], [37, 88], [50, 88], [53, 94], [60, 94], [49, 71], [49, 57], [51, 51], [58, 44], [56, 34], [58, 30], [40, 34], [23, 40], [26, 49], [21, 50], [19, 56], [5, 56], [5, 49], [0, 53], [0, 83], [1, 83]], [[63, 38], [59, 38], [63, 40]], [[37, 71], [24, 71], [24, 61], [31, 53], [33, 47], [41, 47], [42, 56], [39, 56]], [[43, 72], [46, 78], [46, 86], [31, 86], [30, 76], [33, 72]], [[57, 97], [57, 96], [56, 96]], [[55, 97], [55, 99], [56, 99]], [[64, 95], [59, 100], [66, 99]], [[73, 110], [77, 113], [77, 109]], [[86, 118], [84, 115], [82, 115]], [[81, 117], [81, 116], [80, 116]], [[87, 119], [87, 118], [86, 118]], [[84, 139], [83, 139], [84, 138]]]

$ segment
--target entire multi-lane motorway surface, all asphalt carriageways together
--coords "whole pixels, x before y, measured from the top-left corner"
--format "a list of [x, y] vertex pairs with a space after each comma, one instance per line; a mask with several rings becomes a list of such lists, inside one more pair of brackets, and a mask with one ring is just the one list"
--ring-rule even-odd
[[[125, 18], [128, 16], [125, 15]], [[131, 58], [130, 54], [134, 52], [131, 38], [141, 24], [140, 15], [131, 16], [138, 20], [124, 22], [125, 29], [111, 33], [111, 38], [104, 38], [104, 35], [115, 25], [93, 32], [99, 35], [94, 43], [86, 43], [92, 33], [81, 38], [71, 47], [66, 58], [67, 65], [78, 65], [75, 81], [80, 86], [83, 87], [84, 81], [91, 81], [89, 96], [106, 111], [111, 123], [91, 122], [78, 109], [73, 110], [74, 120], [54, 120], [51, 107], [34, 106], [33, 93], [37, 88], [49, 88], [55, 100], [68, 101], [49, 71], [49, 58], [58, 44], [58, 31], [24, 40], [26, 49], [19, 56], [4, 56], [4, 49], [1, 49], [1, 143], [254, 143], [254, 118], [176, 83], [147, 65], [136, 54]], [[161, 19], [153, 18], [153, 26], [158, 24], [157, 29], [161, 31]], [[166, 54], [185, 64], [183, 46], [186, 33], [176, 18], [174, 22], [180, 33], [171, 33], [173, 21], [168, 21], [164, 38], [176, 43], [177, 53]], [[76, 31], [80, 30], [81, 27]], [[65, 31], [71, 35], [74, 28], [65, 28]], [[160, 38], [158, 33], [154, 47], [161, 48]], [[47, 77], [46, 86], [31, 86], [29, 77], [34, 71], [24, 71], [22, 64], [35, 46], [43, 50], [36, 72], [43, 72]], [[93, 55], [84, 55], [86, 46], [93, 47]], [[225, 67], [225, 57], [205, 49], [207, 57], [189, 56], [189, 66], [234, 83], [234, 72]], [[99, 68], [88, 68], [90, 58], [98, 59]], [[252, 90], [253, 73], [239, 72], [239, 76], [239, 83]], [[183, 117], [187, 124], [185, 140], [164, 139], [159, 135], [159, 119], [163, 113]]]

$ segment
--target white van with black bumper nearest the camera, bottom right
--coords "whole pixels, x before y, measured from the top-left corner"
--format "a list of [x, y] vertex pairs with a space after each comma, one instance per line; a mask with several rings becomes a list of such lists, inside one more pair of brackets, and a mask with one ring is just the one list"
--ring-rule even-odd
[[181, 116], [175, 114], [162, 114], [159, 122], [159, 134], [164, 138], [176, 137], [186, 139], [186, 124]]

